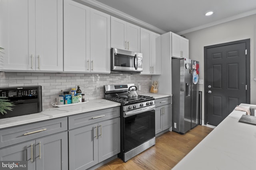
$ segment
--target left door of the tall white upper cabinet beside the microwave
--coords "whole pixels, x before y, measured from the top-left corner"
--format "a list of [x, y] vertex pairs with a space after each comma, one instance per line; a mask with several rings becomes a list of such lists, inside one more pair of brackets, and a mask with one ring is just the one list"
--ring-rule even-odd
[[90, 71], [90, 8], [64, 0], [64, 71]]

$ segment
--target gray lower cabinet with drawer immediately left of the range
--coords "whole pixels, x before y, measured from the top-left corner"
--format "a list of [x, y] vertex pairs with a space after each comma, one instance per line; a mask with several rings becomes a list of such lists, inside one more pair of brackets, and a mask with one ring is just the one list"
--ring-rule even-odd
[[114, 107], [69, 117], [69, 127], [85, 125], [68, 131], [69, 170], [85, 170], [120, 152], [119, 116]]

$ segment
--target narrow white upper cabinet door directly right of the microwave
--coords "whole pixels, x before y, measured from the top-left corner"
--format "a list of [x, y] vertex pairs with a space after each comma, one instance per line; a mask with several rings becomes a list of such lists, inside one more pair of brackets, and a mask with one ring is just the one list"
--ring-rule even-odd
[[143, 57], [143, 71], [140, 74], [151, 74], [151, 31], [140, 29], [140, 53]]

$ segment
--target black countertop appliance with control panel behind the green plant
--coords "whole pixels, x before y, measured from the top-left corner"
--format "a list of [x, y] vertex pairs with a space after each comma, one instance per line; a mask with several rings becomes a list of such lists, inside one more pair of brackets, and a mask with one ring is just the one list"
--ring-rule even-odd
[[0, 96], [14, 104], [0, 119], [42, 111], [42, 86], [1, 87]]

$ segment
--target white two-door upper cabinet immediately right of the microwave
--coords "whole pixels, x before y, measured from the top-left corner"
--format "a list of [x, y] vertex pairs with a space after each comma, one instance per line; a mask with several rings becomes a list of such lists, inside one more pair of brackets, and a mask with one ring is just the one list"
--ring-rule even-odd
[[143, 71], [140, 74], [161, 74], [160, 35], [140, 28], [140, 52], [143, 56]]

